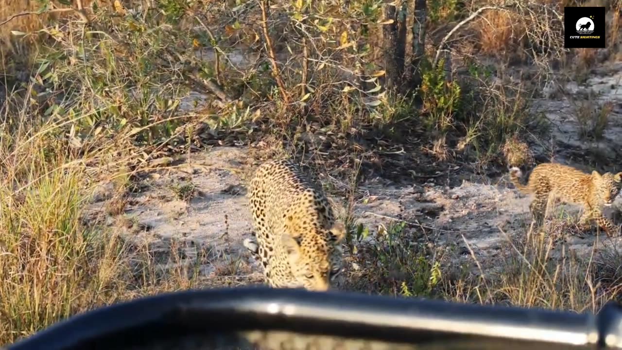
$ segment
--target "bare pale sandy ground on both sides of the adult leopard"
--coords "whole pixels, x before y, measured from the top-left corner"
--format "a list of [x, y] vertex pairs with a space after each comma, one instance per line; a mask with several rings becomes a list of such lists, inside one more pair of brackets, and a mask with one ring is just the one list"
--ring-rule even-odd
[[[597, 100], [613, 102], [605, 140], [599, 143], [578, 138], [579, 125], [569, 102], [538, 102], [549, 110], [545, 115], [553, 125], [549, 146], [556, 150], [555, 161], [577, 164], [577, 154], [585, 155], [587, 149], [594, 148], [600, 149], [611, 163], [620, 159], [622, 97], [614, 88], [622, 77], [620, 67], [620, 64], [606, 67], [593, 74], [585, 85], [569, 87], [577, 95], [592, 90]], [[196, 260], [200, 252], [208, 252], [202, 265], [202, 274], [207, 278], [230, 274], [230, 278], [241, 284], [261, 281], [258, 265], [242, 245], [252, 231], [245, 194], [246, 179], [253, 166], [248, 149], [219, 147], [193, 153], [177, 166], [154, 171], [119, 216], [133, 223], [127, 227], [126, 237], [148, 242], [154, 250], [161, 251], [162, 264], [170, 264], [164, 253], [170, 243], [179, 242], [183, 258], [188, 261]], [[453, 263], [475, 266], [473, 262], [477, 260], [486, 270], [494, 268], [498, 259], [503, 258], [502, 247], [521, 240], [529, 230], [531, 198], [519, 194], [509, 185], [507, 177], [484, 182], [463, 181], [457, 187], [437, 184], [434, 179], [422, 186], [389, 183], [376, 178], [358, 187], [364, 195], [356, 202], [353, 212], [356, 222], [369, 228], [371, 237], [378, 232], [379, 225], [388, 227], [406, 221], [414, 232], [425, 232], [419, 239], [451, 251]], [[182, 198], [184, 192], [192, 192], [189, 199]], [[343, 215], [345, 200], [332, 197], [332, 201]], [[622, 207], [621, 201], [618, 198], [614, 209]], [[94, 209], [103, 203], [96, 202]], [[558, 206], [550, 214], [554, 224], [561, 223], [567, 228], [562, 229], [559, 237], [566, 242], [565, 249], [587, 258], [594, 248], [613, 247], [622, 242], [622, 238], [609, 239], [604, 235], [597, 239], [589, 232], [575, 235], [572, 222], [576, 222], [578, 215], [579, 208], [569, 205]], [[231, 268], [233, 265], [235, 268]]]

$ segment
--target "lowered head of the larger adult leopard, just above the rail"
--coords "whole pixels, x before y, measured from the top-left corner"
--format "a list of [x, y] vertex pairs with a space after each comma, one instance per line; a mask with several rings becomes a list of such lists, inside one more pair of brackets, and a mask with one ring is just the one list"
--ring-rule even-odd
[[295, 279], [292, 284], [307, 290], [328, 290], [331, 281], [341, 272], [341, 243], [346, 235], [345, 226], [337, 223], [325, 230], [309, 225], [305, 229], [297, 227], [287, 232], [295, 232], [281, 237]]

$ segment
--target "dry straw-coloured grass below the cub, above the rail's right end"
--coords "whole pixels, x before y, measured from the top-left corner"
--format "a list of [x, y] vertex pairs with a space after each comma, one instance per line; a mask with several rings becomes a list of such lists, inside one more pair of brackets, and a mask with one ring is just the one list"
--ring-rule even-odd
[[500, 265], [443, 281], [443, 295], [461, 302], [576, 312], [597, 312], [607, 301], [617, 300], [622, 288], [617, 272], [603, 268], [611, 263], [596, 255], [588, 260], [573, 255], [560, 240], [568, 234], [569, 223], [553, 221], [542, 232], [529, 230], [518, 240], [508, 237]]

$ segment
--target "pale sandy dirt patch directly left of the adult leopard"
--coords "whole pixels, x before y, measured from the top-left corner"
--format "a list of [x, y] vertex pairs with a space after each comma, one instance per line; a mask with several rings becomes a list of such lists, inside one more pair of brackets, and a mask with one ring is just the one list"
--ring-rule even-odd
[[261, 272], [241, 244], [251, 235], [246, 161], [246, 151], [238, 148], [193, 153], [177, 166], [149, 174], [124, 213], [108, 220], [121, 225], [132, 244], [148, 245], [162, 268], [174, 265], [171, 260], [200, 259], [200, 273], [208, 279], [257, 281]]

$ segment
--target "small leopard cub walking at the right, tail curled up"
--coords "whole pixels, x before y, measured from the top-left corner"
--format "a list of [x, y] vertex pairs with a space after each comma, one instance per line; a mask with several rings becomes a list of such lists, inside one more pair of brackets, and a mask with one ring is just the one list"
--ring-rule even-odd
[[510, 179], [514, 186], [525, 193], [533, 193], [534, 200], [529, 205], [536, 224], [542, 224], [549, 199], [555, 197], [563, 202], [583, 205], [580, 224], [587, 227], [590, 221], [596, 222], [610, 237], [620, 235], [620, 229], [603, 216], [603, 206], [610, 206], [620, 192], [622, 173], [592, 174], [563, 164], [543, 163], [536, 166], [529, 176], [526, 186], [520, 182], [521, 170], [510, 169]]

